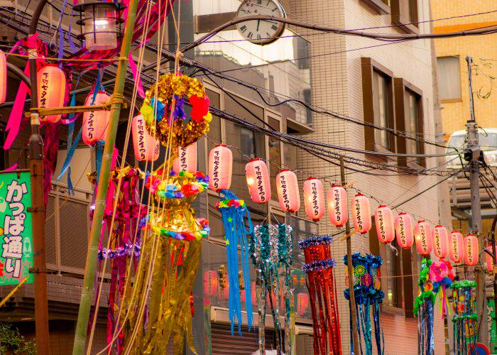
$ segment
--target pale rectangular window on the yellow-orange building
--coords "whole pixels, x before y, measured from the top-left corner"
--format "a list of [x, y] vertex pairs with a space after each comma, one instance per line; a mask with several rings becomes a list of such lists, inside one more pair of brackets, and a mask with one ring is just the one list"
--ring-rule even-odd
[[437, 58], [438, 92], [442, 102], [461, 99], [461, 71], [459, 57]]

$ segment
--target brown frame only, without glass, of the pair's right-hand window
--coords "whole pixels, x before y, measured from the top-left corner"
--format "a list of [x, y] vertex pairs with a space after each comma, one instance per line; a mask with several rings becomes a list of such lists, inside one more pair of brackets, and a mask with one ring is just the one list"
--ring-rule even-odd
[[[407, 102], [409, 92], [417, 95], [417, 136], [419, 138], [425, 138], [425, 114], [423, 111], [423, 92], [422, 89], [416, 87], [414, 84], [411, 84], [407, 80], [402, 77], [395, 77], [393, 79], [394, 85], [394, 98], [395, 98], [395, 129], [397, 131], [409, 131], [406, 129], [408, 127], [408, 118], [410, 118], [409, 105]], [[409, 153], [407, 149], [407, 138], [402, 136], [396, 136], [396, 146], [397, 153]], [[418, 154], [425, 153], [425, 143], [419, 143], [419, 151]], [[407, 157], [398, 157], [398, 165], [407, 166], [413, 169], [423, 169], [426, 167], [425, 158], [420, 158], [418, 163], [413, 161], [412, 158], [408, 159]]]

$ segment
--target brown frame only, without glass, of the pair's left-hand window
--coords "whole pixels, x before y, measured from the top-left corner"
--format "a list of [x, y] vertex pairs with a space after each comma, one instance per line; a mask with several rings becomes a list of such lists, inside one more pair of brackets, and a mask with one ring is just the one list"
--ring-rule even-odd
[[[373, 75], [374, 72], [379, 72], [381, 75], [385, 75], [388, 80], [388, 114], [389, 114], [389, 128], [395, 128], [395, 109], [394, 109], [394, 92], [393, 92], [393, 72], [388, 70], [386, 67], [376, 62], [372, 58], [361, 58], [361, 71], [362, 71], [362, 94], [363, 94], [363, 117], [364, 121], [368, 124], [375, 124], [374, 117], [374, 90], [373, 87]], [[390, 146], [387, 148], [381, 146], [380, 143], [376, 142], [375, 138], [376, 129], [371, 126], [364, 126], [364, 148], [366, 151], [381, 151], [395, 153], [395, 135], [388, 132], [388, 141]], [[388, 157], [384, 157], [388, 159]]]

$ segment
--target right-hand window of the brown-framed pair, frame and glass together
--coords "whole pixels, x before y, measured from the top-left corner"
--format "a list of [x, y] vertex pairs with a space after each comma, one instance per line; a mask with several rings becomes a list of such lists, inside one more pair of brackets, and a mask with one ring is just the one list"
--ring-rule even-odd
[[[395, 92], [395, 129], [405, 131], [413, 138], [423, 138], [423, 108], [422, 91], [410, 82], [396, 77], [394, 80]], [[397, 153], [422, 154], [425, 146], [420, 141], [405, 137], [396, 137]], [[419, 168], [425, 166], [422, 158], [399, 157], [398, 164]]]

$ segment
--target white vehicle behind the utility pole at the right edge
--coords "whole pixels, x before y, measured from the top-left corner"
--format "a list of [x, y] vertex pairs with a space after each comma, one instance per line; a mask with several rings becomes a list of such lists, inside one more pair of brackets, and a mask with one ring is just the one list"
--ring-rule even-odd
[[[497, 129], [479, 129], [478, 141], [482, 151], [485, 154], [486, 163], [490, 166], [497, 166]], [[454, 148], [466, 148], [466, 131], [455, 131], [449, 138], [447, 146]], [[454, 152], [454, 149], [447, 148], [447, 153]], [[464, 164], [466, 160], [461, 156]], [[460, 169], [461, 159], [457, 155], [447, 155], [447, 169]]]

